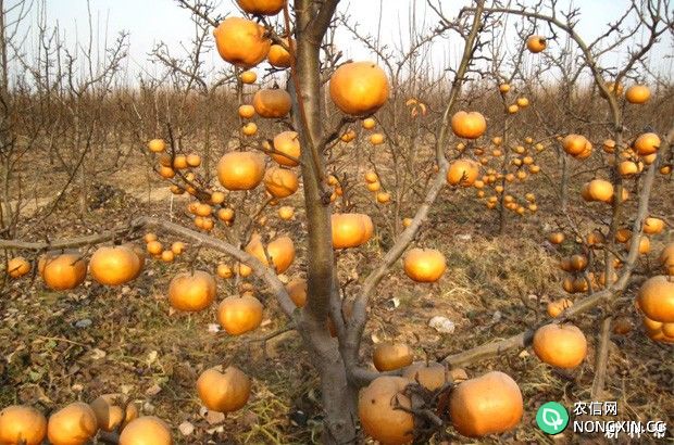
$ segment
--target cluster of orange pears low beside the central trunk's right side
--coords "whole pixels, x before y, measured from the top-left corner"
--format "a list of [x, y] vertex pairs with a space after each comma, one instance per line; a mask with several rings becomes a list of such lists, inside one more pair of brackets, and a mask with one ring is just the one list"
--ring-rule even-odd
[[[378, 371], [399, 371], [401, 377], [374, 379], [359, 394], [358, 414], [364, 432], [382, 444], [408, 444], [414, 438], [412, 391], [437, 399], [433, 409], [462, 435], [482, 437], [515, 428], [524, 412], [517, 383], [499, 371], [469, 379], [461, 368], [435, 361], [414, 361], [404, 343], [384, 342], [373, 352]], [[407, 409], [405, 409], [407, 408]]]

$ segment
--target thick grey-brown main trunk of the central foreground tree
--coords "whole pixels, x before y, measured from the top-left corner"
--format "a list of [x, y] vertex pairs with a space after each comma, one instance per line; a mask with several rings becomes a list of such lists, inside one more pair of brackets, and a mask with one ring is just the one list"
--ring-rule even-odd
[[[355, 442], [357, 390], [350, 387], [339, 344], [326, 328], [330, 303], [339, 300], [333, 252], [329, 199], [325, 199], [320, 46], [313, 2], [296, 0], [296, 63], [290, 90], [294, 118], [302, 145], [302, 182], [308, 223], [309, 300], [298, 321], [304, 347], [321, 376], [324, 410], [323, 443]], [[312, 151], [313, 147], [313, 151]]]

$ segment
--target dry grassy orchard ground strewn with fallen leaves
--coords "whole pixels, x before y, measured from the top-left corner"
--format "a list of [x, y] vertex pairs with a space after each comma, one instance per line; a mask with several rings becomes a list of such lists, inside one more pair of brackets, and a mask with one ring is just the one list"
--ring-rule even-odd
[[[65, 174], [54, 171], [43, 158], [32, 160], [36, 171], [48, 174], [25, 177], [28, 182], [23, 187], [35, 190], [35, 196], [27, 200], [18, 231], [30, 233], [35, 240], [66, 239], [103, 231], [141, 214], [162, 218], [171, 214], [175, 221], [189, 227], [191, 218], [185, 212], [188, 200], [173, 196], [166, 183], [148, 171], [141, 150], [133, 151], [127, 169], [91, 188], [90, 212], [85, 220], [75, 217], [76, 191], [67, 192], [53, 214], [45, 218], [54, 200], [49, 191], [57, 189], [50, 185], [63, 181]], [[394, 276], [377, 294], [377, 304], [372, 306], [366, 330], [370, 339], [363, 357], [371, 355], [374, 342], [394, 339], [413, 345], [416, 359], [460, 352], [522, 331], [548, 317], [549, 301], [567, 296], [560, 285], [564, 272], [558, 267], [559, 255], [545, 241], [549, 230], [557, 227], [557, 164], [552, 157], [540, 164], [553, 180], [542, 181], [537, 190], [539, 212], [526, 217], [509, 215], [502, 236], [495, 232], [497, 214], [475, 199], [473, 189], [442, 192], [424, 230], [433, 231], [433, 244], [426, 246], [445, 253], [448, 270], [438, 283], [415, 284], [404, 277], [400, 264], [396, 266]], [[349, 171], [354, 180], [364, 173], [364, 168]], [[651, 214], [671, 221], [671, 179], [665, 186], [654, 190]], [[571, 190], [579, 190], [579, 185], [572, 183]], [[276, 215], [278, 207], [270, 207], [265, 214], [270, 231], [290, 233], [300, 250], [298, 256], [310, 260], [310, 255], [301, 252], [305, 230], [300, 223], [303, 218], [298, 195], [282, 202], [296, 205], [294, 220], [280, 220]], [[372, 196], [370, 200], [370, 207], [363, 211], [376, 214], [377, 204]], [[30, 208], [30, 201], [37, 201], [36, 211]], [[578, 193], [572, 193], [572, 206], [574, 202], [579, 202]], [[576, 209], [586, 212], [585, 220], [589, 224], [592, 208], [582, 207]], [[651, 254], [639, 259], [640, 270], [653, 270], [654, 258], [671, 237], [670, 229], [669, 234], [652, 238]], [[160, 240], [178, 241], [161, 233]], [[142, 245], [142, 240], [136, 242]], [[389, 242], [375, 234], [358, 252], [340, 254], [340, 278], [366, 275], [382, 254], [380, 246]], [[9, 282], [0, 298], [0, 406], [23, 403], [48, 412], [74, 399], [91, 402], [103, 393], [123, 392], [140, 404], [142, 412], [165, 419], [179, 443], [317, 441], [319, 377], [299, 336], [288, 331], [267, 342], [255, 341], [287, 326], [274, 300], [265, 298], [263, 289], [260, 297], [265, 304], [265, 321], [242, 341], [209, 329], [216, 325], [215, 305], [195, 315], [170, 309], [168, 281], [187, 267], [185, 258], [194, 251], [195, 246], [188, 245], [184, 257], [172, 264], [149, 259], [141, 276], [121, 288], [105, 288], [88, 279], [83, 287], [59, 293], [47, 290], [39, 278]], [[222, 260], [227, 258], [204, 251], [195, 266], [214, 271]], [[285, 276], [289, 279], [301, 272], [296, 263]], [[617, 402], [617, 419], [663, 420], [671, 429], [671, 346], [648, 339], [633, 304], [638, 283], [651, 275], [635, 276], [620, 300], [620, 315], [629, 318], [635, 329], [627, 335], [612, 336], [606, 398]], [[234, 279], [219, 279], [217, 285], [219, 301], [236, 293]], [[452, 320], [454, 333], [440, 334], [429, 328], [433, 316]], [[557, 400], [572, 407], [574, 402], [589, 400], [599, 326], [591, 312], [579, 317], [576, 325], [588, 338], [589, 353], [573, 371], [542, 364], [531, 348], [466, 368], [470, 377], [491, 369], [503, 370], [519, 383], [524, 396], [524, 419], [514, 433], [483, 438], [483, 443], [544, 441], [535, 422], [536, 410], [542, 403]], [[226, 418], [205, 415], [195, 391], [199, 373], [219, 363], [236, 364], [254, 382], [247, 406]], [[179, 432], [185, 422], [195, 427], [189, 436]], [[571, 436], [570, 432], [564, 434]]]

